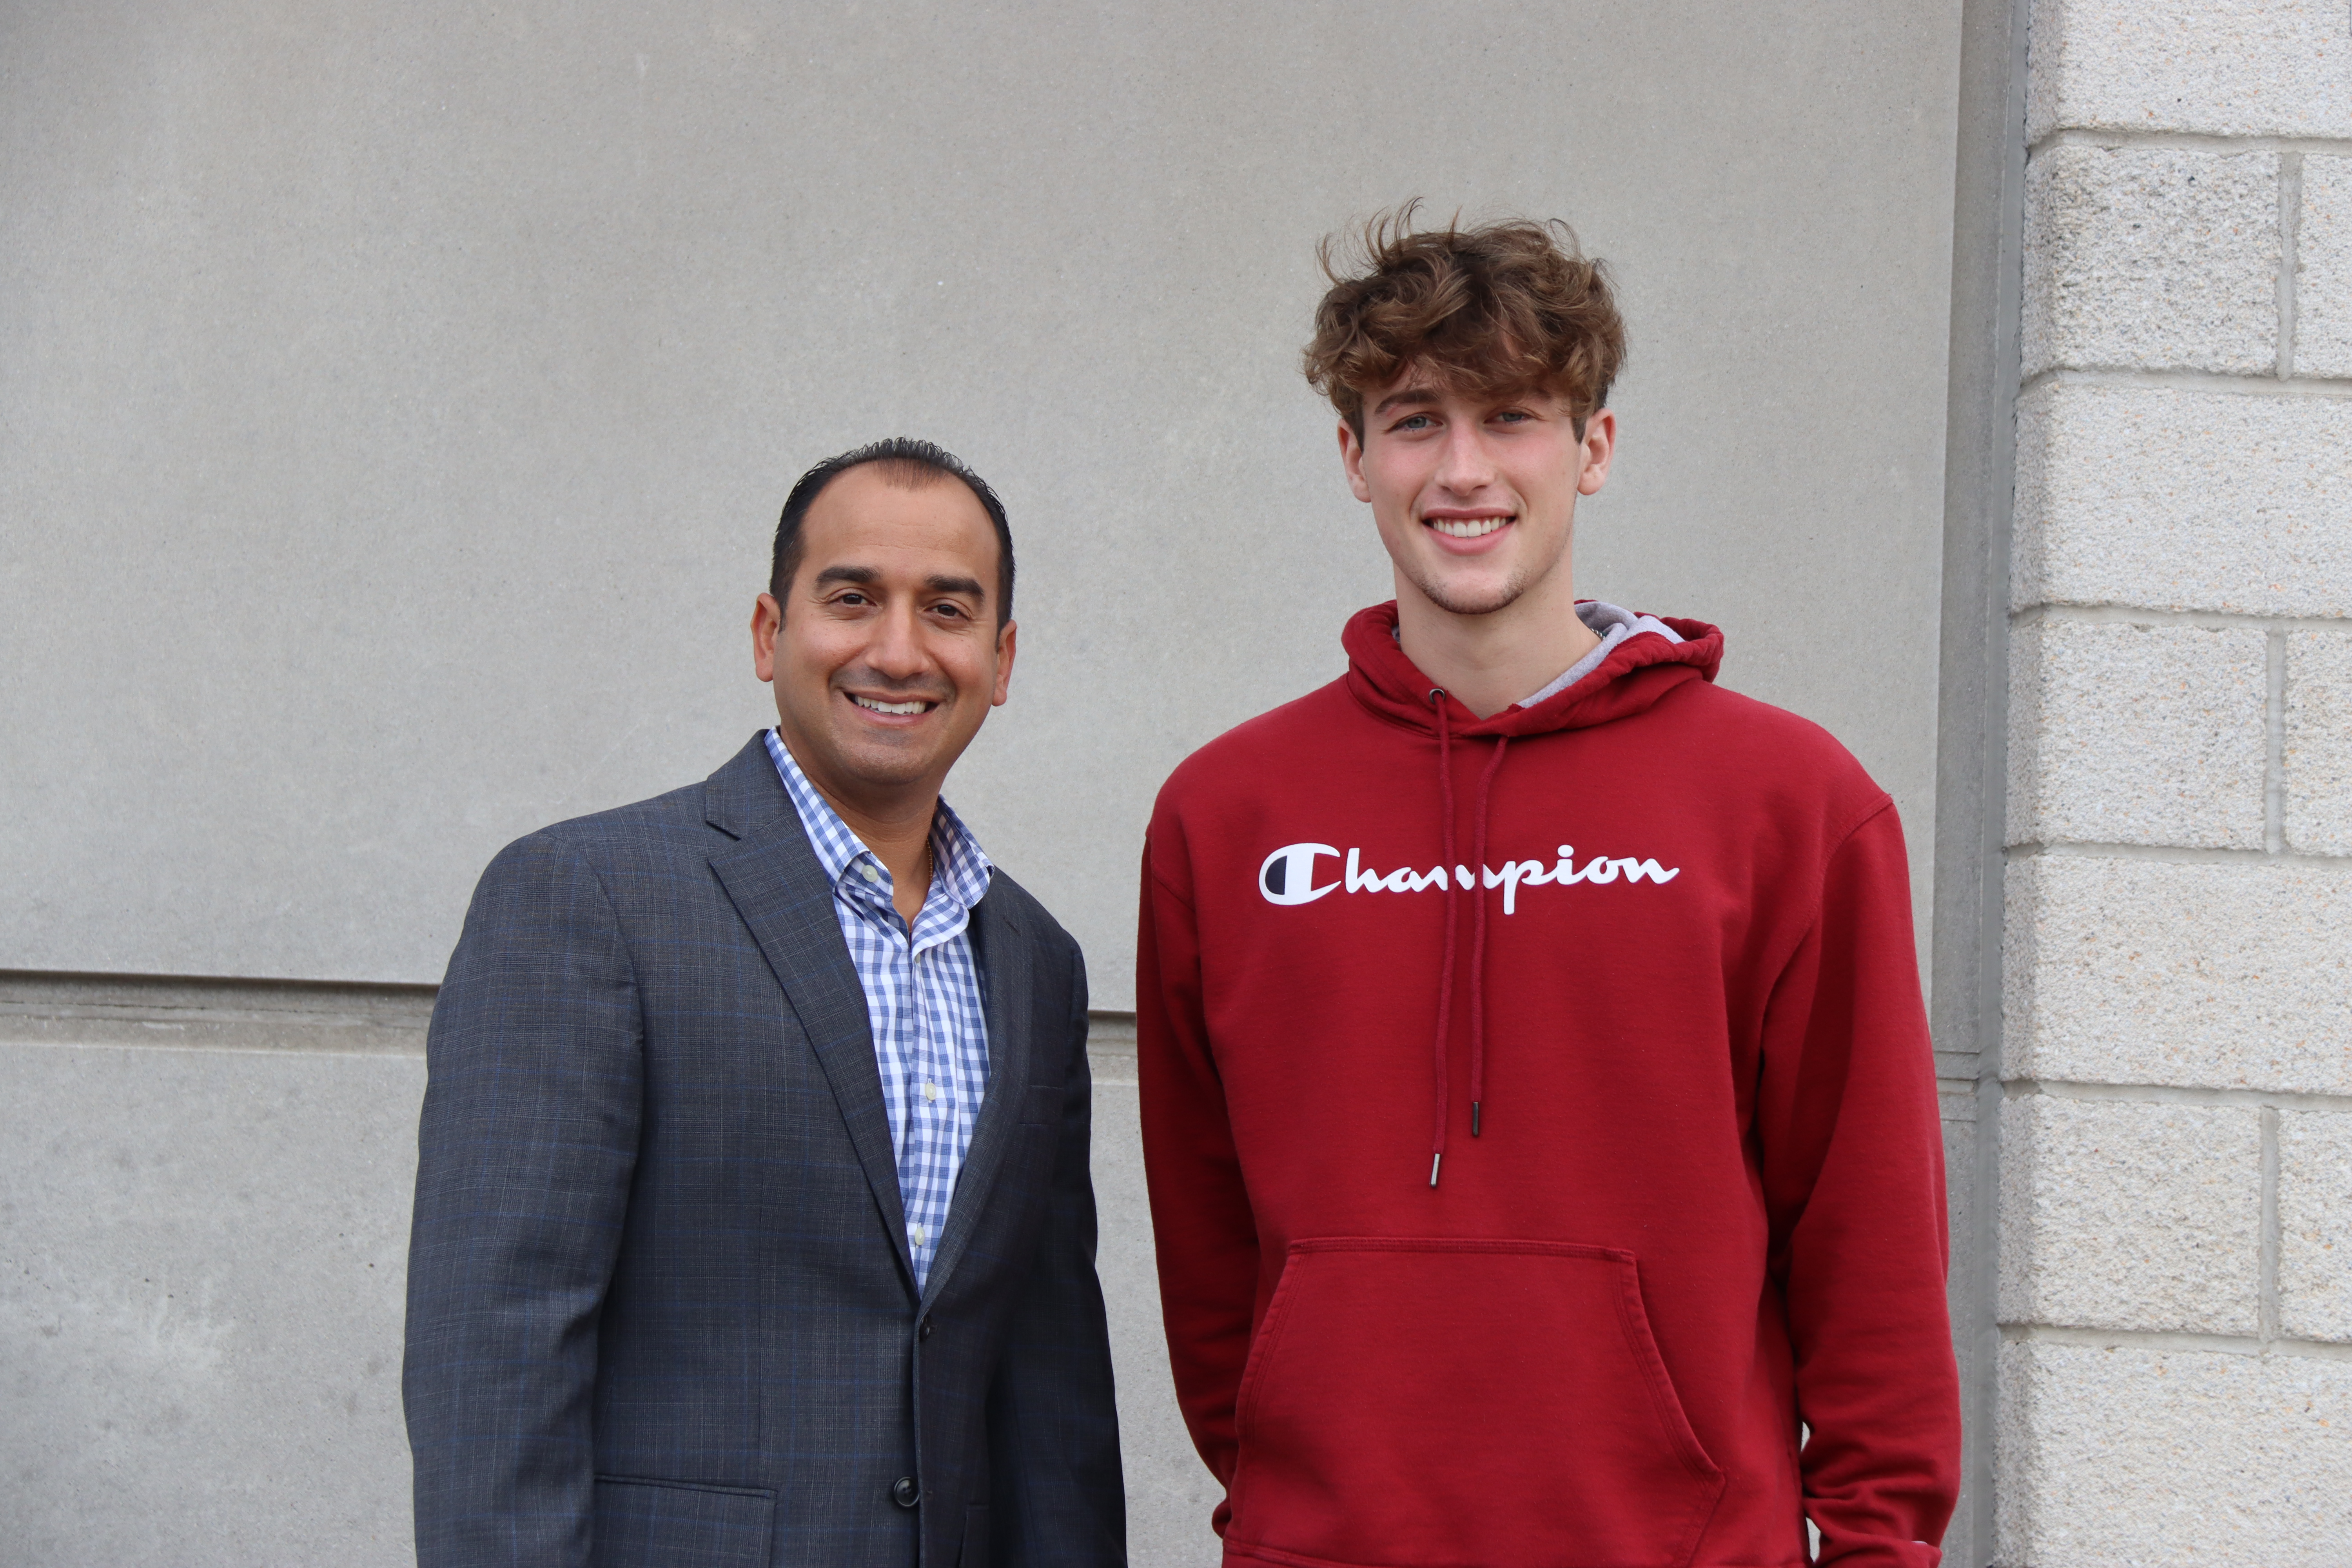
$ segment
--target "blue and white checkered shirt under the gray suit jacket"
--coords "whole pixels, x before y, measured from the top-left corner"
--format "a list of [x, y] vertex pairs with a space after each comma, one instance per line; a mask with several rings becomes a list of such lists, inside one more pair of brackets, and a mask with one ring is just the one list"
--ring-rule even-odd
[[971, 959], [971, 905], [988, 893], [988, 856], [962, 818], [938, 802], [931, 818], [931, 891], [908, 931], [891, 905], [889, 867], [866, 849], [807, 780], [783, 738], [767, 731], [809, 846], [833, 877], [833, 914], [866, 987], [866, 1018], [882, 1070], [889, 1143], [898, 1159], [906, 1244], [915, 1291], [931, 1274], [938, 1232], [955, 1201], [955, 1175], [971, 1147], [971, 1124], [988, 1093], [988, 1013], [981, 966]]

